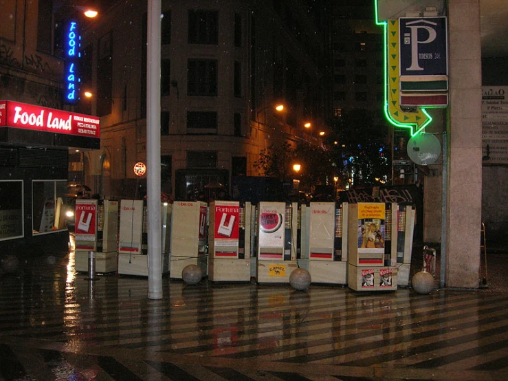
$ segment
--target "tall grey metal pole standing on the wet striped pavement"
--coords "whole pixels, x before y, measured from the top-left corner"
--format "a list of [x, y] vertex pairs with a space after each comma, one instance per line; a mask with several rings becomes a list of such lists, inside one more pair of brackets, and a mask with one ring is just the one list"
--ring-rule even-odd
[[148, 298], [162, 299], [160, 186], [161, 0], [148, 0], [146, 159], [148, 203]]

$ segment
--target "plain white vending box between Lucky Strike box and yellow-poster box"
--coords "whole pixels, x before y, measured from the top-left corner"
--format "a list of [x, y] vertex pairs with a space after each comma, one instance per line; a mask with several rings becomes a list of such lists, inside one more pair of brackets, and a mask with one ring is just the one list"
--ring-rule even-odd
[[307, 257], [313, 283], [347, 283], [347, 205], [311, 202], [309, 206]]

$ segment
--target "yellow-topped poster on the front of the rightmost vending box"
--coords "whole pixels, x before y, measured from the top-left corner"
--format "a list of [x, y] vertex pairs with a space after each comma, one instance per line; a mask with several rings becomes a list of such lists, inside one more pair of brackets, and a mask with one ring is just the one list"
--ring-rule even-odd
[[385, 204], [358, 204], [358, 252], [384, 253]]

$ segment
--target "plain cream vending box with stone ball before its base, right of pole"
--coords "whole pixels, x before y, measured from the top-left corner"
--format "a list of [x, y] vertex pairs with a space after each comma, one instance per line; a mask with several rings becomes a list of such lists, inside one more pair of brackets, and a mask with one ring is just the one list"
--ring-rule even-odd
[[208, 272], [206, 202], [175, 201], [171, 213], [170, 277], [181, 279], [186, 265], [198, 265]]

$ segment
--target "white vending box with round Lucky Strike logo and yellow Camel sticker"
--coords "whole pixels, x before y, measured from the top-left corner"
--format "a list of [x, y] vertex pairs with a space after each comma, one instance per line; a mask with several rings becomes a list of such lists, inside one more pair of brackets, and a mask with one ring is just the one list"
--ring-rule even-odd
[[260, 202], [257, 222], [256, 281], [289, 283], [298, 268], [298, 203]]

